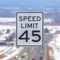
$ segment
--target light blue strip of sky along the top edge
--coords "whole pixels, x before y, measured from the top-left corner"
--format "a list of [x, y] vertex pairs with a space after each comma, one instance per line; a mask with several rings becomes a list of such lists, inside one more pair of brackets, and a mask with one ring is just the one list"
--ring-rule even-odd
[[60, 0], [0, 0], [0, 8], [60, 8]]

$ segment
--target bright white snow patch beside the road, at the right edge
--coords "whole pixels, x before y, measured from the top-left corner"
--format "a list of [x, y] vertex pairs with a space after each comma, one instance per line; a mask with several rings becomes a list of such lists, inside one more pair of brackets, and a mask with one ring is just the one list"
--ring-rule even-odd
[[60, 34], [56, 35], [55, 40], [49, 43], [49, 47], [53, 49], [53, 53], [49, 50], [50, 56], [53, 56], [55, 60], [60, 60]]

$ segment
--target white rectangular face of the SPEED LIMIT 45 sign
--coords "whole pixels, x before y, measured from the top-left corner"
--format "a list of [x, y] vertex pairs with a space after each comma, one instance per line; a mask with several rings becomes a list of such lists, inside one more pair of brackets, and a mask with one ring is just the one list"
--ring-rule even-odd
[[19, 12], [16, 43], [19, 45], [42, 45], [42, 13]]

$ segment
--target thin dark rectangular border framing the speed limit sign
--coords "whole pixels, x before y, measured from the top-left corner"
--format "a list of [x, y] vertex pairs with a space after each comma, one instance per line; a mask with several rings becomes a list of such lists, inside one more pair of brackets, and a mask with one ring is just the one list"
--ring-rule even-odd
[[[17, 14], [18, 13], [42, 13], [42, 45], [18, 45], [17, 44]], [[20, 47], [20, 46], [42, 46], [44, 48], [44, 44], [43, 44], [43, 41], [44, 41], [44, 30], [43, 30], [43, 21], [44, 20], [44, 16], [43, 16], [43, 12], [16, 12], [16, 46], [17, 47]]]

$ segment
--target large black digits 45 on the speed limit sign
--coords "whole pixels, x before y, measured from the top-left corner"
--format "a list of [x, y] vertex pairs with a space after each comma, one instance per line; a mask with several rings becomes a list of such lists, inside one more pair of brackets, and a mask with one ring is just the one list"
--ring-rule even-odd
[[[41, 40], [41, 36], [38, 34], [40, 31], [39, 30], [33, 30], [32, 31], [32, 36], [34, 37], [38, 37], [38, 39], [32, 39], [32, 42], [39, 42]], [[26, 37], [24, 38], [23, 35], [26, 35]], [[19, 40], [26, 40], [26, 42], [28, 42], [29, 37], [28, 37], [28, 31], [26, 30], [20, 37]]]

